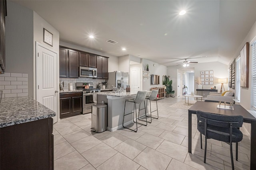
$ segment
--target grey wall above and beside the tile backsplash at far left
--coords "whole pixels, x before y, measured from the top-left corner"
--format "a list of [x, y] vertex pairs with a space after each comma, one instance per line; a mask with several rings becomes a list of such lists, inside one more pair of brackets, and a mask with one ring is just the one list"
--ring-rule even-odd
[[33, 11], [7, 1], [6, 72], [28, 74], [28, 96], [33, 97]]

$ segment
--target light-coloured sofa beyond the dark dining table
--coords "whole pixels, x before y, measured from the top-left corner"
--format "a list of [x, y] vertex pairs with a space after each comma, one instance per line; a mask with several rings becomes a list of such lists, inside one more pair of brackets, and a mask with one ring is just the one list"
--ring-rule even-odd
[[232, 91], [225, 91], [223, 93], [216, 93], [210, 92], [210, 94], [206, 98], [206, 102], [227, 102], [227, 103], [234, 103], [234, 92]]

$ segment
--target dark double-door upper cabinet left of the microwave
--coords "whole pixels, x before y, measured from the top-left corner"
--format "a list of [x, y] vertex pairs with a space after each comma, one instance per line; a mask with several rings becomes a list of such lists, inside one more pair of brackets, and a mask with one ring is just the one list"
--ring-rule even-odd
[[79, 52], [60, 47], [60, 77], [78, 78]]

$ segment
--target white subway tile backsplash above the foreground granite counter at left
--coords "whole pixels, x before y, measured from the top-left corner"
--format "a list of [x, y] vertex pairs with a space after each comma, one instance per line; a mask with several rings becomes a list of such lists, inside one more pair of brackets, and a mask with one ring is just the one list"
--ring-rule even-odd
[[28, 74], [5, 72], [0, 74], [2, 98], [28, 96]]

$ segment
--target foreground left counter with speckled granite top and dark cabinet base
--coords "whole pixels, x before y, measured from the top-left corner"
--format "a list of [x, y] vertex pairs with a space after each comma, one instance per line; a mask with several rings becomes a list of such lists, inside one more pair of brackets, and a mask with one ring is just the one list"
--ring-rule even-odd
[[30, 97], [0, 103], [0, 169], [54, 169], [56, 113]]

